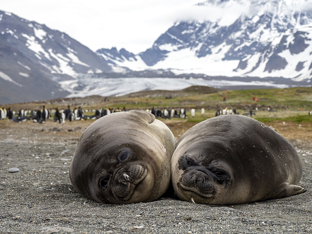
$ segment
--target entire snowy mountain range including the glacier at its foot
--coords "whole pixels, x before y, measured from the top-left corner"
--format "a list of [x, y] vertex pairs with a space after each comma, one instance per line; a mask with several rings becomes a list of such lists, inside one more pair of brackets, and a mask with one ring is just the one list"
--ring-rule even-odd
[[188, 85], [312, 84], [311, 0], [194, 7], [197, 17], [186, 14], [137, 55], [115, 47], [93, 52], [66, 33], [0, 11], [0, 104]]

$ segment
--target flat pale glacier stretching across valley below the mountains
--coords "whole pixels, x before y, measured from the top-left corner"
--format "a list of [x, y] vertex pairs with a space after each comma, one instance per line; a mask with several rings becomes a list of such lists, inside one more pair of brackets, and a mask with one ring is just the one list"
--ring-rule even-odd
[[[239, 86], [263, 88], [288, 88], [290, 85], [273, 84], [268, 81], [231, 81], [231, 80], [206, 80], [185, 78], [79, 78], [60, 81], [61, 88], [70, 92], [67, 98], [86, 97], [90, 95], [123, 96], [129, 93], [144, 90], [180, 90], [193, 85], [210, 86], [221, 89], [232, 89]], [[77, 90], [78, 88], [78, 90]]]

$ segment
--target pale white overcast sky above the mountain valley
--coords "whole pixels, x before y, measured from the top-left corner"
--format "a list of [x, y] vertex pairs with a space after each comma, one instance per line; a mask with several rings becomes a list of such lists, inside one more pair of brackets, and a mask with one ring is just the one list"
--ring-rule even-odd
[[137, 54], [203, 1], [3, 0], [0, 10], [65, 32], [93, 51], [115, 46]]

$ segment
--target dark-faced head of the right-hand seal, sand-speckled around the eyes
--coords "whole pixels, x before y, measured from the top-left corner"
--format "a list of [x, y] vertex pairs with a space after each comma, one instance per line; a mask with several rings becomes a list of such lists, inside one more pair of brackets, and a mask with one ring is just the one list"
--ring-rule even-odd
[[217, 150], [213, 149], [205, 139], [197, 138], [193, 146], [180, 140], [171, 165], [173, 188], [178, 197], [194, 203], [222, 203], [235, 184], [235, 166], [227, 159], [229, 151], [216, 144], [213, 145]]

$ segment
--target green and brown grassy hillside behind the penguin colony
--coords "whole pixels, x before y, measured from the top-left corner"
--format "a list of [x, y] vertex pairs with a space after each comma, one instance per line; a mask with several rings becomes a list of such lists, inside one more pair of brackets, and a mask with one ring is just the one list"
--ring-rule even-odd
[[[205, 108], [210, 115], [221, 108], [232, 108], [240, 112], [250, 109], [306, 112], [312, 109], [312, 87], [280, 88], [280, 89], [250, 89], [250, 90], [218, 90], [209, 87], [192, 86], [180, 91], [142, 91], [119, 97], [88, 96], [84, 98], [61, 98], [45, 102], [15, 103], [10, 105], [13, 110], [21, 108], [38, 109], [42, 105], [52, 109], [57, 106], [66, 108], [81, 106], [83, 109], [122, 108], [150, 109], [155, 108]], [[223, 97], [226, 101], [223, 101]], [[256, 101], [253, 100], [255, 97]]]

